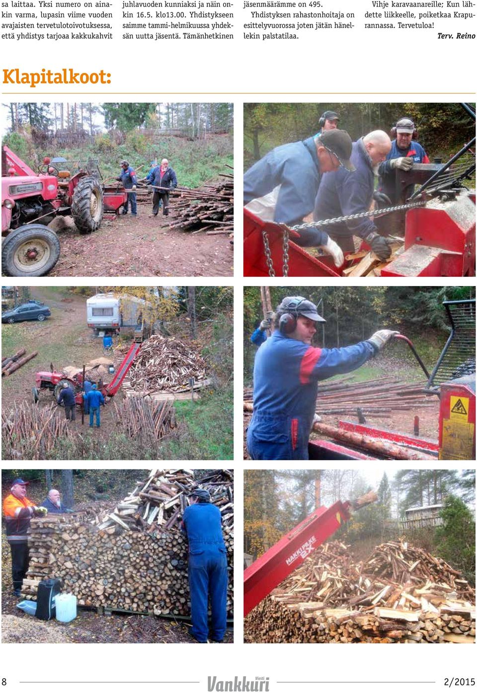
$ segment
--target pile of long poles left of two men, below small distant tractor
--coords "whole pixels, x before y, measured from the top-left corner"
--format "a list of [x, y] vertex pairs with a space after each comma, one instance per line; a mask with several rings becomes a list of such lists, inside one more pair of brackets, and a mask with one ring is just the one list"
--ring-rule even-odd
[[62, 411], [54, 404], [15, 405], [1, 412], [1, 446], [4, 459], [45, 459], [58, 438], [71, 437]]

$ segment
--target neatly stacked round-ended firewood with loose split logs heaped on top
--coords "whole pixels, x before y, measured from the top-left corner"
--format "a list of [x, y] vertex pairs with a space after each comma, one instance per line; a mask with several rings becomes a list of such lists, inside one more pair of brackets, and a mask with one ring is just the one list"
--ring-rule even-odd
[[186, 469], [152, 470], [121, 502], [97, 514], [31, 520], [30, 566], [22, 595], [36, 599], [42, 579], [58, 577], [80, 606], [154, 615], [189, 615], [187, 538], [180, 520], [187, 496], [208, 489], [220, 508], [229, 563], [227, 611], [233, 613], [233, 472], [199, 481]]

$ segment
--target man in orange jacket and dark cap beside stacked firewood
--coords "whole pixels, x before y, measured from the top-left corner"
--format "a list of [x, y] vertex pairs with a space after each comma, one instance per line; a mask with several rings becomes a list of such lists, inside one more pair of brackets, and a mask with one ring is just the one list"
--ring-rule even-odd
[[12, 554], [13, 593], [19, 597], [21, 584], [28, 570], [28, 536], [30, 520], [33, 516], [47, 514], [44, 507], [37, 507], [26, 498], [26, 486], [29, 482], [14, 479], [11, 493], [3, 501], [7, 541]]

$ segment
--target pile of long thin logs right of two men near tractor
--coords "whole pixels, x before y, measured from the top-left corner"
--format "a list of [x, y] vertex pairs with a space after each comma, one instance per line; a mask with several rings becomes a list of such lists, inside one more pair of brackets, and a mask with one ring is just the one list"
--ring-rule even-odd
[[207, 234], [230, 234], [234, 231], [234, 178], [216, 185], [205, 185], [193, 190], [179, 191], [174, 198], [175, 221], [171, 229], [207, 231]]

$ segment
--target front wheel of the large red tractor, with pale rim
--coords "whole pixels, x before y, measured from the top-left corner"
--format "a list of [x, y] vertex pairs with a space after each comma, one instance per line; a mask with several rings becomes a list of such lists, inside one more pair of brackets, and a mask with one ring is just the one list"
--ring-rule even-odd
[[21, 226], [3, 240], [1, 271], [8, 277], [42, 277], [60, 257], [58, 236], [42, 224]]

